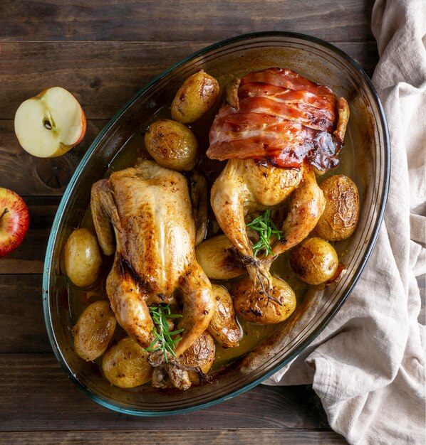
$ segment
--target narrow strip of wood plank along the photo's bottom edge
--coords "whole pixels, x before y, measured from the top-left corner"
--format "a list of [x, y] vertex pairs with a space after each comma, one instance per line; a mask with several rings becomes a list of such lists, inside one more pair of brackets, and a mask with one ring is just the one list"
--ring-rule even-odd
[[170, 438], [177, 444], [222, 445], [316, 445], [347, 444], [342, 436], [333, 431], [304, 429], [192, 429], [191, 431], [28, 431], [0, 433], [0, 444], [165, 444]]

